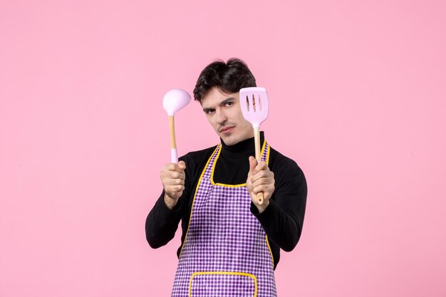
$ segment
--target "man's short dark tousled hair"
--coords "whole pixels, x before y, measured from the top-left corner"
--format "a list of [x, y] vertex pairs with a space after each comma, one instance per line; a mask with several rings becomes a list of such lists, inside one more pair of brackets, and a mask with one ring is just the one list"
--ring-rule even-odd
[[255, 87], [256, 78], [247, 63], [239, 58], [230, 58], [227, 63], [222, 60], [210, 63], [199, 73], [194, 89], [194, 98], [201, 102], [204, 95], [214, 87], [224, 93], [237, 93], [241, 88]]

